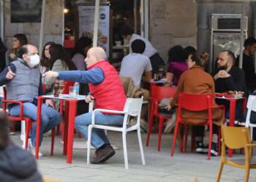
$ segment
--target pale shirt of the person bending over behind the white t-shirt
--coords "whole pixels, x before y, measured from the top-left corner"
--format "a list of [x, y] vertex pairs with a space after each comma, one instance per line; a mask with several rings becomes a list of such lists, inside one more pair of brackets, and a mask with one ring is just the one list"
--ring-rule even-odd
[[145, 48], [145, 51], [143, 52], [143, 55], [146, 55], [148, 58], [150, 58], [152, 55], [157, 53], [157, 50], [152, 46], [150, 41], [148, 41], [147, 39], [144, 39], [142, 36], [139, 36], [137, 34], [132, 34], [132, 37], [129, 40], [129, 52], [132, 52], [132, 48], [131, 48], [132, 41], [135, 41], [136, 39], [143, 40], [144, 43], [146, 44], [146, 48]]

